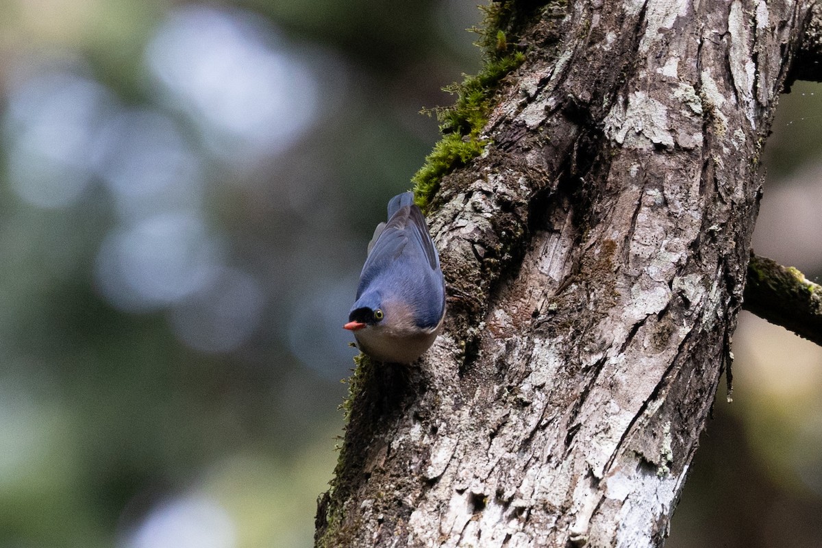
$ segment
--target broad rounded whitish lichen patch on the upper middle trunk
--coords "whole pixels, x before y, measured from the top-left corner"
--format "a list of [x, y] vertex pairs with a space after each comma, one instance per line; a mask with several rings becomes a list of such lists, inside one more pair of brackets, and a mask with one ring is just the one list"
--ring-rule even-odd
[[628, 149], [651, 150], [654, 145], [673, 146], [667, 108], [644, 91], [628, 96], [627, 106], [618, 102], [604, 120], [605, 135]]

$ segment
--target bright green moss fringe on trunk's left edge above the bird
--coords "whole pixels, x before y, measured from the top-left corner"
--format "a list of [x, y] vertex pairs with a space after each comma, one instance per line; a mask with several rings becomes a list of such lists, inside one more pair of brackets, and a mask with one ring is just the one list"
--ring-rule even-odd
[[428, 111], [436, 114], [443, 137], [411, 179], [417, 204], [423, 210], [439, 189], [442, 177], [483, 154], [490, 142], [480, 133], [491, 113], [496, 90], [502, 79], [525, 60], [524, 53], [510, 46], [506, 33], [513, 4], [492, 2], [481, 7], [485, 12], [483, 28], [476, 32], [480, 35], [477, 45], [483, 48], [483, 68], [476, 76], [465, 76], [461, 84], [444, 88], [457, 96], [454, 106]]

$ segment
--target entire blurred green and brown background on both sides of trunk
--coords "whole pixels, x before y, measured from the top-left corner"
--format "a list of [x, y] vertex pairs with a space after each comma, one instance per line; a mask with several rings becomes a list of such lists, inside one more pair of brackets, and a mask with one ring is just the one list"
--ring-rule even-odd
[[[478, 0], [0, 3], [0, 548], [312, 546], [386, 201]], [[755, 250], [822, 274], [822, 97]], [[822, 349], [744, 313], [669, 546], [820, 546]]]

